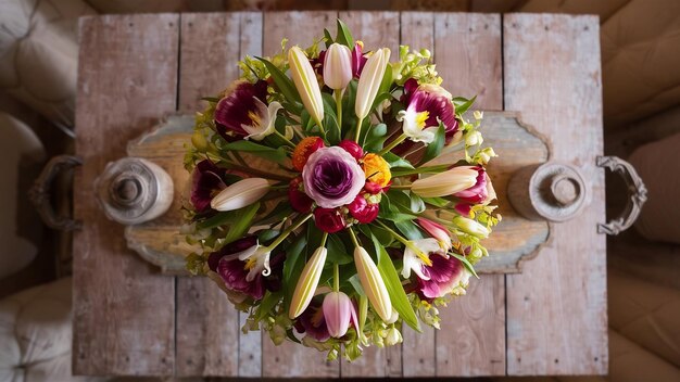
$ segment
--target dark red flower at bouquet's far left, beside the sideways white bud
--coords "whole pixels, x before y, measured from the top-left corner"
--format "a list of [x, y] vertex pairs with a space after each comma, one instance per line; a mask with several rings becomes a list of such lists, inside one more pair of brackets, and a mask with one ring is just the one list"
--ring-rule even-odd
[[199, 162], [191, 174], [191, 204], [198, 213], [210, 209], [213, 196], [227, 187], [226, 170], [209, 160]]

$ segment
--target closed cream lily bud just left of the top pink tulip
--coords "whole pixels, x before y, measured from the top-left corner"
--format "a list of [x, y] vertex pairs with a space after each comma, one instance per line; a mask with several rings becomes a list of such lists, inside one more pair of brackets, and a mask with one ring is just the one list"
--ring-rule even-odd
[[310, 64], [310, 59], [307, 59], [300, 47], [292, 47], [288, 50], [288, 64], [290, 65], [290, 74], [295, 88], [298, 88], [302, 99], [302, 104], [323, 130], [324, 99], [322, 98], [322, 90], [318, 87], [314, 68]]

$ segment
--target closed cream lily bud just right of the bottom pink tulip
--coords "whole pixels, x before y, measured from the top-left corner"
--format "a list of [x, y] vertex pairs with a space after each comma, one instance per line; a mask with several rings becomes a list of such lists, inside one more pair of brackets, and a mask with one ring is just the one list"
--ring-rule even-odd
[[370, 305], [383, 321], [388, 321], [392, 317], [392, 301], [378, 267], [362, 246], [354, 249], [354, 264]]

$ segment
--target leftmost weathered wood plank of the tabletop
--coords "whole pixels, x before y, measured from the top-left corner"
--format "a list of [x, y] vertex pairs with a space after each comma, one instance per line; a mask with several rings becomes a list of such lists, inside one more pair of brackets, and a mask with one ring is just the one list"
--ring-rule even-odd
[[[74, 372], [172, 375], [175, 280], [126, 249], [123, 226], [97, 205], [93, 181], [128, 140], [175, 111], [178, 16], [80, 22], [74, 187]], [[115, 73], [115, 75], [106, 75]]]

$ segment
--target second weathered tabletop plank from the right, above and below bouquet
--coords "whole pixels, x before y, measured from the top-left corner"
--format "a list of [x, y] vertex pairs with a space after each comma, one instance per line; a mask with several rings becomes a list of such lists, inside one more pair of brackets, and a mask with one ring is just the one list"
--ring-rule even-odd
[[[500, 15], [435, 16], [435, 61], [452, 94], [477, 94], [476, 107], [501, 110], [501, 54]], [[505, 281], [502, 275], [482, 278], [470, 280], [466, 296], [440, 309], [437, 375], [505, 373]]]

